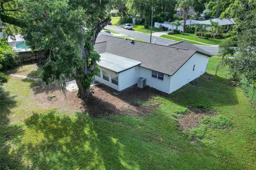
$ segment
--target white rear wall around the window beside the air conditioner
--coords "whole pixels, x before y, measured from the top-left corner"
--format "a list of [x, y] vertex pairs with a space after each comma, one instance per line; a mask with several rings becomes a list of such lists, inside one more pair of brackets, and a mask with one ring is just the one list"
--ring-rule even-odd
[[157, 90], [161, 90], [163, 92], [168, 93], [169, 87], [170, 87], [170, 77], [168, 75], [164, 74], [164, 80], [158, 80], [153, 77], [151, 77], [152, 71], [145, 69], [143, 67], [140, 67], [140, 76], [146, 78], [146, 85], [153, 87]]

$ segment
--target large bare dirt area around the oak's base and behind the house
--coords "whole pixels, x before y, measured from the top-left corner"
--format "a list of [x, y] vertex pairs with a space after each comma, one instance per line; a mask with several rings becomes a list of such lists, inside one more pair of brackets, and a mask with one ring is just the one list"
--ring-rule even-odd
[[[139, 89], [132, 87], [116, 93], [104, 84], [92, 87], [93, 95], [90, 99], [81, 100], [77, 92], [66, 91], [66, 97], [58, 87], [45, 87], [34, 84], [34, 100], [43, 108], [57, 108], [65, 112], [85, 112], [93, 116], [99, 115], [139, 115], [143, 116], [154, 112], [160, 104], [156, 103], [154, 97], [162, 94], [151, 88]], [[54, 97], [52, 97], [54, 96]], [[51, 98], [51, 100], [49, 100]], [[134, 101], [141, 101], [138, 105]], [[149, 104], [148, 101], [150, 101]]]

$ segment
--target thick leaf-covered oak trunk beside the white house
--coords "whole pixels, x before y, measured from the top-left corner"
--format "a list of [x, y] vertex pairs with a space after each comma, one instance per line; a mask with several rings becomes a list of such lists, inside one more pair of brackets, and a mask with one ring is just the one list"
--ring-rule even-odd
[[[103, 27], [105, 27], [109, 22], [111, 21], [110, 18], [107, 18], [106, 20], [102, 21], [101, 23], [97, 24], [97, 26], [94, 28], [94, 33], [91, 35], [87, 41], [91, 41], [92, 45], [95, 44], [96, 38], [99, 34], [99, 32], [102, 30]], [[89, 55], [91, 53], [90, 48], [84, 45], [84, 42], [81, 42], [80, 44], [80, 51], [82, 55], [82, 60], [84, 61], [83, 68], [76, 69], [76, 76], [75, 80], [78, 86], [78, 97], [81, 99], [89, 98], [92, 94], [90, 89], [90, 83], [89, 80], [92, 80], [92, 72], [95, 69], [96, 63], [91, 62], [90, 65], [89, 62]]]

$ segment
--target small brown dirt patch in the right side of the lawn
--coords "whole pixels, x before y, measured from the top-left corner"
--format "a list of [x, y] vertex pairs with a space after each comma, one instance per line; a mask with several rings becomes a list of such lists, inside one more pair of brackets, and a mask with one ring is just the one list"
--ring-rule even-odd
[[213, 111], [206, 110], [203, 107], [189, 107], [190, 112], [178, 119], [179, 126], [184, 131], [189, 131], [199, 125], [199, 121], [205, 116], [214, 117]]

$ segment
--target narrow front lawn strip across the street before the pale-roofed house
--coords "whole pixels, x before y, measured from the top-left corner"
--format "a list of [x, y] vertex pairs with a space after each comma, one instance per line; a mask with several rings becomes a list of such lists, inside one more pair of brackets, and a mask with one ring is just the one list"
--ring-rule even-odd
[[221, 43], [221, 41], [224, 40], [224, 39], [213, 39], [213, 38], [209, 38], [209, 39], [199, 38], [198, 36], [195, 36], [194, 34], [191, 34], [191, 33], [185, 33], [185, 35], [182, 35], [181, 33], [179, 33], [179, 34], [175, 34], [173, 36], [186, 38], [186, 39], [198, 41], [201, 43], [211, 44], [211, 45], [219, 45]]

